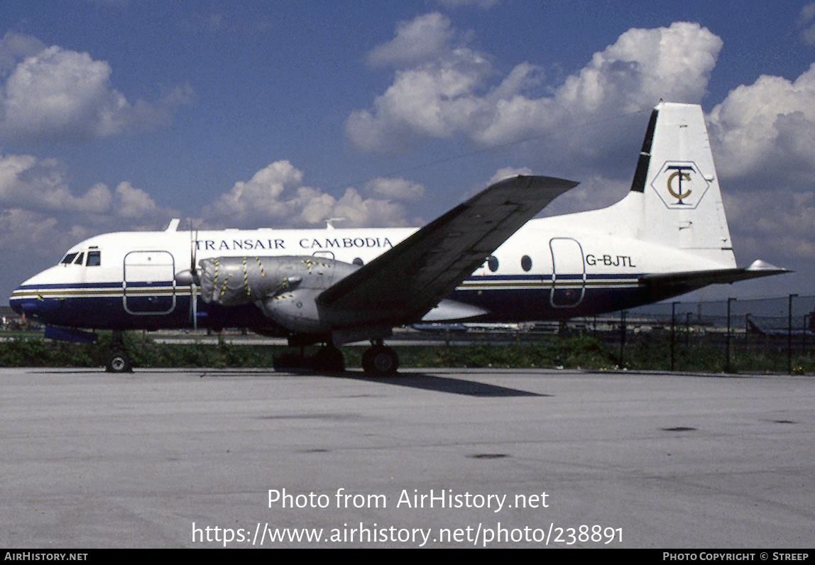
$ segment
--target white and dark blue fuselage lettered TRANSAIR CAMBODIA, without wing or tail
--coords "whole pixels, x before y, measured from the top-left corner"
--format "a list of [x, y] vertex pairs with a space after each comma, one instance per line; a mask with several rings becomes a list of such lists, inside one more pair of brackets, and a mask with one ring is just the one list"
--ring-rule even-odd
[[[562, 218], [527, 223], [448, 298], [481, 307], [488, 313], [479, 318], [488, 321], [589, 316], [667, 298], [655, 296], [654, 289], [641, 284], [642, 273], [716, 267], [700, 265], [697, 256], [677, 249], [549, 227], [556, 220], [562, 226]], [[253, 304], [205, 303], [192, 285], [179, 284], [176, 274], [190, 269], [191, 260], [217, 257], [300, 255], [359, 265], [413, 232], [413, 228], [365, 228], [105, 234], [75, 245], [62, 263], [26, 280], [15, 290], [11, 305], [56, 326], [171, 329], [195, 325], [275, 333], [276, 324]]]

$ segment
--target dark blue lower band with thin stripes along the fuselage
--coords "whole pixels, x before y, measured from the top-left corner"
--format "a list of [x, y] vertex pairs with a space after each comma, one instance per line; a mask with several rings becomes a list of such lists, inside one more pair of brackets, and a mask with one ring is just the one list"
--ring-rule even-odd
[[[638, 284], [638, 275], [558, 275], [554, 285], [556, 289], [575, 289], [582, 293], [579, 302], [553, 306], [552, 276], [526, 274], [472, 276], [449, 298], [491, 311], [490, 320], [532, 321], [591, 316], [635, 307], [647, 302], [650, 295]], [[166, 282], [128, 283], [126, 292], [121, 282], [77, 283], [21, 285], [10, 302], [15, 311], [46, 324], [88, 329], [173, 329], [192, 327], [190, 296], [189, 286]], [[149, 311], [149, 301], [170, 299], [174, 304], [156, 303], [158, 311]], [[134, 302], [136, 300], [147, 302]], [[251, 303], [219, 307], [198, 298], [196, 310], [200, 327], [276, 327]]]

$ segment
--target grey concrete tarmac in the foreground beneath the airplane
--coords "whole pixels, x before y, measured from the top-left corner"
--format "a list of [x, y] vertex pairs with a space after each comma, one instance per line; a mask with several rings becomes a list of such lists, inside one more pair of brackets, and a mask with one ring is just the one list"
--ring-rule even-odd
[[0, 369], [0, 406], [3, 548], [815, 540], [813, 377]]

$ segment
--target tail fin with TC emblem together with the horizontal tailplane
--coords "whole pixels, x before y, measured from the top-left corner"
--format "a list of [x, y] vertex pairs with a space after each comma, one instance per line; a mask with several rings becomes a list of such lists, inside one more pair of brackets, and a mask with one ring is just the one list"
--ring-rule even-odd
[[654, 297], [789, 272], [763, 261], [736, 267], [705, 118], [695, 104], [660, 102], [654, 108], [628, 196], [602, 210], [561, 218], [691, 256], [676, 270], [640, 277], [652, 286]]

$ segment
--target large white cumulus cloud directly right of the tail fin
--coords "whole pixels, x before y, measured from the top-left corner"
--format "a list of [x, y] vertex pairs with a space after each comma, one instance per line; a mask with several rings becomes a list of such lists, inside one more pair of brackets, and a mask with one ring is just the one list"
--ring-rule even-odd
[[734, 241], [781, 263], [815, 259], [815, 65], [738, 86], [707, 121]]

